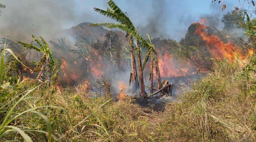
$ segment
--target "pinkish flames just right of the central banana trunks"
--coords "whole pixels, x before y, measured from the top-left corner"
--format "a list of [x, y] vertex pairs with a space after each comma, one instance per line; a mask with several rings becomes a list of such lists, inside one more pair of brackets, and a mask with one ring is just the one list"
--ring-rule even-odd
[[190, 68], [192, 68], [190, 63], [182, 63], [186, 67], [181, 67], [181, 63], [178, 63], [178, 61], [167, 52], [164, 54], [164, 57], [158, 54], [158, 64], [160, 75], [164, 78], [187, 76], [188, 73], [192, 74], [192, 72], [190, 72]]

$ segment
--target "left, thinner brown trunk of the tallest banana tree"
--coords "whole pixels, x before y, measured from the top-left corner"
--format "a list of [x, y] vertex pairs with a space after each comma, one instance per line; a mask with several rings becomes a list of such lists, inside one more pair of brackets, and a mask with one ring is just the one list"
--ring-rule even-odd
[[134, 44], [133, 37], [130, 36], [130, 53], [131, 53], [131, 66], [132, 66], [132, 91], [135, 91], [138, 87], [137, 69], [134, 57]]

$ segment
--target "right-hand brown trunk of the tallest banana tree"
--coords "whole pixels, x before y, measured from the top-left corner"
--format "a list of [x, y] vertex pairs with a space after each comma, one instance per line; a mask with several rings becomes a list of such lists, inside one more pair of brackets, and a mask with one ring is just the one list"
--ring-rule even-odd
[[139, 64], [139, 85], [140, 85], [140, 96], [146, 97], [144, 79], [143, 79], [143, 71], [142, 71], [142, 61], [140, 57], [140, 44], [139, 40], [137, 40], [137, 54], [138, 54], [138, 64]]

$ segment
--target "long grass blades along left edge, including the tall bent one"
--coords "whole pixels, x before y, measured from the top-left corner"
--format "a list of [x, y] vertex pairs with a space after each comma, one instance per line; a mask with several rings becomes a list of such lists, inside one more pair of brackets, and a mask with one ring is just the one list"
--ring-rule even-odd
[[[0, 85], [1, 85], [2, 88], [3, 88], [2, 84], [5, 83], [4, 80], [3, 80], [3, 74], [4, 74], [4, 71], [5, 71], [4, 62], [5, 62], [6, 52], [9, 52], [19, 63], [21, 63], [23, 66], [27, 67], [20, 60], [18, 60], [18, 58], [16, 57], [14, 52], [12, 52], [12, 50], [8, 48], [8, 44], [6, 44], [6, 42], [5, 42], [4, 47], [1, 50], [1, 60], [0, 60]], [[18, 79], [18, 80], [20, 80], [20, 79]], [[6, 97], [9, 97], [11, 94], [14, 94], [15, 97], [13, 99], [11, 99], [10, 101], [7, 101], [4, 104], [1, 104], [0, 112], [5, 113], [5, 116], [4, 116], [4, 118], [0, 118], [0, 122], [1, 122], [1, 125], [0, 125], [0, 140], [1, 140], [1, 138], [8, 137], [8, 135], [11, 135], [15, 132], [18, 132], [18, 134], [20, 134], [24, 138], [25, 141], [32, 142], [31, 137], [26, 134], [26, 131], [28, 131], [30, 133], [34, 131], [34, 132], [40, 132], [40, 133], [46, 134], [48, 142], [50, 142], [52, 140], [52, 138], [55, 141], [59, 141], [57, 136], [52, 134], [52, 126], [50, 124], [50, 121], [49, 121], [48, 117], [45, 116], [43, 113], [37, 112], [36, 110], [38, 110], [39, 108], [44, 108], [44, 107], [51, 107], [51, 108], [60, 108], [60, 107], [57, 107], [57, 106], [39, 106], [39, 107], [32, 107], [32, 108], [27, 109], [27, 110], [22, 111], [22, 112], [15, 111], [15, 108], [18, 106], [19, 103], [21, 103], [23, 101], [26, 101], [28, 99], [35, 98], [35, 97], [27, 97], [27, 96], [34, 89], [38, 88], [38, 86], [34, 87], [32, 89], [28, 89], [28, 90], [24, 91], [21, 94], [18, 94], [18, 95], [16, 94], [17, 89], [20, 89], [20, 88], [24, 87], [28, 83], [30, 83], [30, 82], [25, 83], [23, 81], [21, 81], [21, 82], [17, 81], [17, 84], [19, 84], [19, 86], [16, 87], [16, 89], [14, 89], [13, 91], [10, 91], [6, 95]], [[9, 83], [7, 83], [7, 84], [9, 84]], [[5, 89], [5, 88], [3, 88], [3, 89]], [[6, 90], [6, 91], [9, 91], [9, 90]], [[24, 95], [22, 95], [22, 94], [24, 94]], [[60, 109], [64, 110], [63, 108], [60, 108]], [[26, 126], [22, 126], [22, 125], [10, 125], [12, 122], [14, 122], [15, 119], [20, 118], [23, 114], [28, 113], [28, 112], [31, 112], [31, 113], [34, 113], [34, 114], [40, 116], [47, 125], [47, 131], [31, 129], [31, 128], [27, 128]], [[66, 113], [66, 114], [68, 115], [69, 120], [71, 120], [70, 117], [69, 117], [69, 114], [68, 113]], [[70, 126], [72, 127], [71, 121], [69, 121], [69, 122], [70, 122]], [[22, 129], [22, 128], [26, 128], [26, 129]]]

